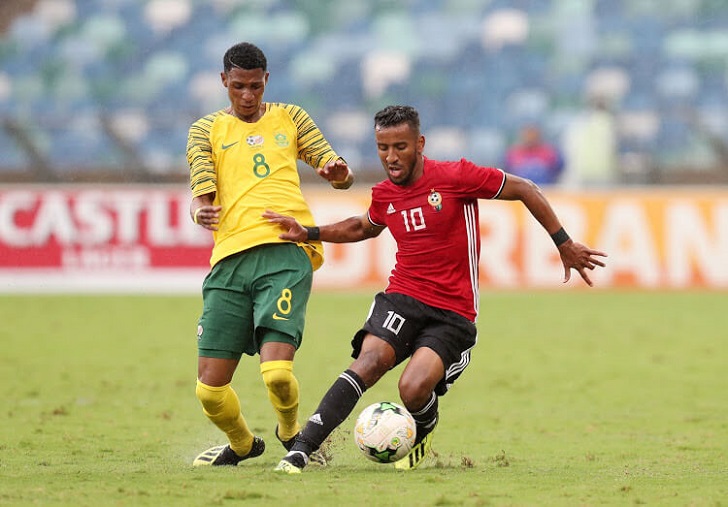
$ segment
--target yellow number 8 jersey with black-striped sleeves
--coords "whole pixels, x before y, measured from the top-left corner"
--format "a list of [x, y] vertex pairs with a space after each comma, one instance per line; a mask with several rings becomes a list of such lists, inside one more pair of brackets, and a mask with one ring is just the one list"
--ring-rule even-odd
[[[210, 265], [278, 238], [280, 226], [261, 217], [267, 209], [314, 225], [301, 193], [297, 160], [320, 168], [338, 155], [299, 106], [266, 103], [254, 123], [216, 111], [192, 124], [187, 141], [190, 188], [194, 197], [215, 193], [222, 207]], [[300, 243], [313, 269], [323, 264], [320, 241]]]

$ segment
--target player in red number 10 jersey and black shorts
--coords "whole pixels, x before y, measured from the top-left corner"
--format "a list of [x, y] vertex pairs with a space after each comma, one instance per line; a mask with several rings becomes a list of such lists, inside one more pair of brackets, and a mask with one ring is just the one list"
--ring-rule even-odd
[[308, 457], [348, 416], [364, 391], [409, 358], [399, 379], [400, 398], [417, 423], [411, 452], [395, 467], [412, 469], [427, 456], [438, 422], [438, 398], [470, 362], [476, 342], [480, 233], [478, 199], [521, 201], [551, 235], [564, 265], [588, 285], [587, 270], [604, 266], [592, 250], [569, 238], [549, 202], [530, 180], [465, 159], [439, 162], [423, 155], [417, 111], [389, 106], [374, 117], [377, 150], [388, 179], [372, 189], [367, 214], [321, 227], [266, 212], [282, 239], [349, 243], [389, 228], [396, 264], [384, 292], [352, 346], [354, 362], [336, 379], [277, 471], [300, 473]]

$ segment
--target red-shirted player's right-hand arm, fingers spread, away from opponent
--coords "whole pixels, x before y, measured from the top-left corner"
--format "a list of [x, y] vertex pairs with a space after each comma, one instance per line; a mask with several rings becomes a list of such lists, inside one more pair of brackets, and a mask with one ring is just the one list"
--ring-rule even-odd
[[564, 283], [571, 279], [571, 270], [575, 269], [587, 285], [593, 286], [587, 270], [592, 271], [597, 266], [603, 268], [605, 264], [598, 257], [606, 257], [607, 254], [599, 250], [592, 250], [572, 240], [564, 231], [559, 218], [536, 184], [508, 174], [498, 199], [521, 201], [531, 215], [546, 229], [559, 249], [561, 262], [564, 265]]

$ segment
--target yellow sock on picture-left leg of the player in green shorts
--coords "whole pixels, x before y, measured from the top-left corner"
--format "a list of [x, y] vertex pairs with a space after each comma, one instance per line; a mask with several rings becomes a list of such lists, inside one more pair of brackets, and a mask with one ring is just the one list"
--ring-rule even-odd
[[253, 433], [240, 413], [240, 400], [230, 384], [213, 387], [198, 380], [195, 394], [205, 415], [227, 435], [232, 450], [238, 456], [248, 454], [253, 447]]

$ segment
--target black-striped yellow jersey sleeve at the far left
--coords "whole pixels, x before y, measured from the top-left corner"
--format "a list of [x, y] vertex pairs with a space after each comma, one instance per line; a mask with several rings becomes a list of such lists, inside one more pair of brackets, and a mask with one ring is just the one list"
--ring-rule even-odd
[[192, 124], [187, 137], [187, 162], [190, 165], [190, 189], [192, 196], [217, 191], [217, 174], [212, 161], [210, 132], [216, 114], [200, 118]]

